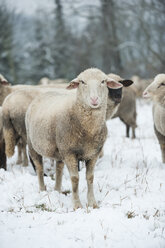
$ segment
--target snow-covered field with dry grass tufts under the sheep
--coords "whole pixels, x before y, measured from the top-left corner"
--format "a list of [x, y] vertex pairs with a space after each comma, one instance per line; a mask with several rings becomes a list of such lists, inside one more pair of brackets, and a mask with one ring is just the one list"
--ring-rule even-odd
[[[0, 170], [0, 248], [164, 248], [165, 164], [153, 131], [151, 105], [138, 102], [137, 139], [125, 138], [119, 119], [108, 122], [104, 157], [95, 168], [99, 209], [86, 207], [85, 168], [80, 171], [83, 209], [73, 211], [71, 193], [54, 191], [46, 177], [39, 192], [31, 166], [8, 160]], [[46, 161], [47, 172], [53, 172]], [[71, 190], [65, 168], [63, 190]]]

